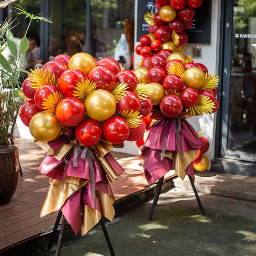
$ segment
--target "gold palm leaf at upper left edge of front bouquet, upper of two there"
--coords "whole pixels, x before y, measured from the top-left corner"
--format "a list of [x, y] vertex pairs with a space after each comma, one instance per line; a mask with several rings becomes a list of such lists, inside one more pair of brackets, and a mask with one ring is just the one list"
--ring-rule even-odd
[[38, 89], [39, 87], [49, 84], [56, 86], [58, 85], [59, 79], [56, 80], [55, 75], [50, 75], [50, 70], [46, 70], [45, 68], [35, 67], [34, 70], [30, 70], [29, 73], [29, 81], [31, 84], [31, 87], [34, 89]]

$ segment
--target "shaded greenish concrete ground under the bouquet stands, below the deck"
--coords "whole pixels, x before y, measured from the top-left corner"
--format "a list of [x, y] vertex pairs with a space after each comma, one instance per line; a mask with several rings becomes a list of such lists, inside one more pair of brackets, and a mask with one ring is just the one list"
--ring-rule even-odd
[[[126, 211], [106, 224], [116, 256], [255, 256], [256, 202], [199, 193], [207, 216], [192, 190], [175, 188], [161, 194], [153, 220], [152, 201]], [[101, 226], [84, 237], [64, 235], [61, 256], [109, 256]], [[40, 241], [40, 242], [39, 242]], [[55, 255], [47, 241], [33, 240], [4, 252], [8, 255]]]

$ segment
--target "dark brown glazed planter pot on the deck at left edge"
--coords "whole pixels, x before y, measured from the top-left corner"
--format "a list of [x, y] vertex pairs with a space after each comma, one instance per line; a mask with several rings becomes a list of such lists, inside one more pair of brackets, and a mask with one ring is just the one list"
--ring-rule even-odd
[[19, 181], [18, 148], [0, 146], [0, 205], [8, 204]]

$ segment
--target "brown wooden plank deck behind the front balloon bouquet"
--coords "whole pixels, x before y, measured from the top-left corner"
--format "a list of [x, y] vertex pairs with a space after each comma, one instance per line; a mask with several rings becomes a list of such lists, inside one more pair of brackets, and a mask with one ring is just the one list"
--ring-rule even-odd
[[[40, 236], [54, 224], [57, 216], [57, 213], [43, 218], [39, 215], [49, 187], [49, 178], [38, 171], [44, 150], [26, 139], [16, 139], [15, 145], [19, 149], [23, 175], [11, 202], [0, 206], [0, 252]], [[144, 190], [147, 181], [137, 156], [117, 152], [113, 155], [125, 170], [111, 183], [116, 200]]]

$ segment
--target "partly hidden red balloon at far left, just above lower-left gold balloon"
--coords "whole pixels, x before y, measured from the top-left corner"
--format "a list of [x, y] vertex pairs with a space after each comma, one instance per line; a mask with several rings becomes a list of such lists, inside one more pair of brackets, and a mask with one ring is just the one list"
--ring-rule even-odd
[[40, 112], [42, 110], [40, 110], [34, 100], [27, 100], [27, 101], [24, 101], [22, 106], [21, 106], [21, 110], [20, 110], [20, 117], [21, 117], [21, 120], [22, 120], [22, 123], [29, 127], [29, 123], [30, 123], [30, 120], [31, 118], [37, 114], [38, 112]]

